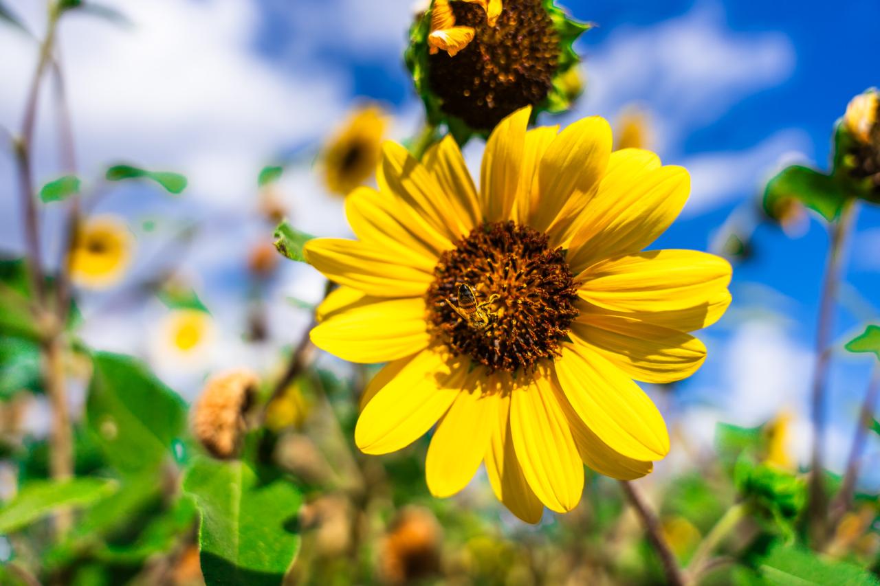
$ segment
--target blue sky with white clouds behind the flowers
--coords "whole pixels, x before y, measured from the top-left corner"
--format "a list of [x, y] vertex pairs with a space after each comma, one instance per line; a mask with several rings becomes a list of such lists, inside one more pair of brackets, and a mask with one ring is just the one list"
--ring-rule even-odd
[[[39, 6], [13, 0], [34, 30]], [[266, 348], [238, 341], [246, 286], [247, 245], [266, 238], [253, 212], [253, 178], [280, 152], [314, 150], [356, 100], [378, 99], [397, 115], [393, 136], [419, 125], [420, 107], [400, 53], [406, 43], [412, 0], [108, 0], [129, 14], [133, 30], [87, 18], [62, 31], [65, 64], [84, 175], [109, 160], [186, 172], [192, 187], [183, 201], [131, 189], [109, 198], [102, 210], [165, 217], [158, 235], [174, 223], [199, 222], [202, 235], [181, 270], [209, 308], [231, 356], [265, 368]], [[652, 115], [664, 161], [685, 165], [693, 195], [685, 213], [656, 246], [705, 250], [713, 233], [743, 201], [759, 193], [782, 160], [825, 166], [833, 121], [847, 101], [880, 84], [876, 63], [876, 0], [790, 3], [634, 2], [569, 0], [576, 17], [596, 22], [578, 49], [585, 56], [588, 90], [565, 123], [590, 114], [612, 122], [633, 102]], [[22, 88], [33, 69], [33, 48], [0, 29], [4, 92], [0, 124], [16, 128]], [[9, 88], [7, 91], [6, 88]], [[44, 105], [45, 106], [45, 105]], [[55, 170], [51, 116], [41, 111], [37, 172]], [[469, 162], [481, 146], [469, 145]], [[8, 178], [8, 179], [7, 179]], [[0, 157], [0, 189], [11, 193], [9, 158]], [[344, 234], [341, 204], [323, 194], [309, 168], [282, 181], [291, 216], [316, 234]], [[16, 204], [0, 199], [0, 247], [20, 249]], [[49, 210], [48, 225], [55, 221]], [[165, 230], [165, 232], [164, 232]], [[862, 209], [847, 280], [880, 305], [880, 209]], [[157, 236], [136, 234], [137, 267], [150, 265]], [[772, 227], [756, 233], [756, 256], [736, 267], [730, 315], [704, 334], [706, 367], [682, 386], [679, 402], [714, 403], [726, 417], [756, 423], [781, 407], [803, 411], [819, 280], [827, 237], [817, 222], [801, 238]], [[49, 243], [51, 244], [51, 243]], [[316, 276], [308, 267], [285, 267], [270, 295], [277, 310], [277, 347], [296, 338], [305, 317], [289, 295], [313, 298]], [[850, 296], [852, 297], [852, 296]], [[94, 304], [99, 306], [98, 303]], [[87, 318], [89, 299], [84, 299]], [[760, 309], [773, 309], [768, 318]], [[139, 329], [150, 329], [164, 311], [146, 304], [128, 313], [92, 314], [87, 334], [101, 348], [150, 355]], [[855, 333], [872, 310], [840, 311], [836, 337]], [[134, 332], [134, 333], [133, 333]], [[832, 451], [839, 457], [854, 421], [869, 363], [841, 356], [834, 371]], [[161, 373], [184, 394], [194, 378]], [[195, 381], [195, 382], [193, 382]], [[801, 436], [803, 437], [803, 435]], [[875, 446], [876, 449], [876, 446]]]

